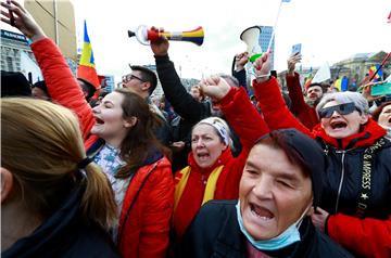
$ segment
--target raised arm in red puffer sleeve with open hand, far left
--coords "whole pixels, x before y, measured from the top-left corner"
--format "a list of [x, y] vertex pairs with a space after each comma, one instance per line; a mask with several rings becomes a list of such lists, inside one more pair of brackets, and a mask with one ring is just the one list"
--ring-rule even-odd
[[[42, 72], [49, 94], [54, 103], [73, 109], [79, 118], [83, 137], [86, 140], [94, 124], [91, 107], [74, 78], [64, 56], [49, 39], [33, 16], [16, 1], [1, 5], [14, 13], [13, 26], [20, 29], [31, 43], [31, 50]], [[11, 24], [8, 13], [1, 12], [1, 21]]]

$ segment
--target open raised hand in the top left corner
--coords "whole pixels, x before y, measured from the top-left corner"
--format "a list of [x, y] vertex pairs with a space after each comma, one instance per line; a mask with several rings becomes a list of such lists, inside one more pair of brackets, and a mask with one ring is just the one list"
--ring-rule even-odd
[[39, 27], [33, 16], [18, 2], [14, 0], [1, 2], [1, 7], [8, 9], [9, 12], [13, 14], [10, 15], [9, 12], [1, 10], [1, 22], [16, 27], [33, 42], [46, 38], [41, 27]]

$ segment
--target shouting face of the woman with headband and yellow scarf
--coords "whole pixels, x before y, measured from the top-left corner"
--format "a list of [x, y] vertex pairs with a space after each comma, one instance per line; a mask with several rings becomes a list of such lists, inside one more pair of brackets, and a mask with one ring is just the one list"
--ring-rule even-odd
[[201, 168], [211, 167], [226, 149], [227, 145], [212, 126], [200, 124], [194, 127], [191, 133], [191, 151]]

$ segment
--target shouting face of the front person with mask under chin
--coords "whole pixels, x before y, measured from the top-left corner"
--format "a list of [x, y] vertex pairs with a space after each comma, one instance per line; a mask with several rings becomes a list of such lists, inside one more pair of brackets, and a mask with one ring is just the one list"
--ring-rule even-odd
[[240, 181], [240, 210], [255, 240], [269, 240], [297, 222], [312, 205], [312, 183], [280, 149], [255, 145]]

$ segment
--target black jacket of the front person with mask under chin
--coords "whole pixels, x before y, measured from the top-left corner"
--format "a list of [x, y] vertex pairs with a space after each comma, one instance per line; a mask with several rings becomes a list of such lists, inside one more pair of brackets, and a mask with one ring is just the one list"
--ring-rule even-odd
[[[241, 233], [237, 201], [210, 201], [202, 206], [179, 247], [178, 257], [247, 257], [245, 236]], [[277, 251], [272, 257], [352, 257], [346, 250], [321, 234], [306, 218], [300, 227], [302, 241]]]

